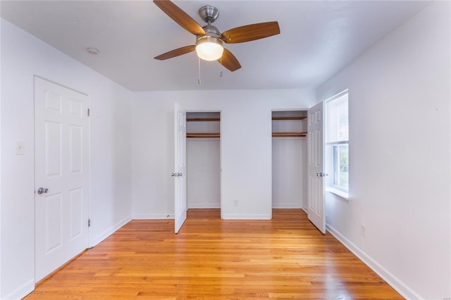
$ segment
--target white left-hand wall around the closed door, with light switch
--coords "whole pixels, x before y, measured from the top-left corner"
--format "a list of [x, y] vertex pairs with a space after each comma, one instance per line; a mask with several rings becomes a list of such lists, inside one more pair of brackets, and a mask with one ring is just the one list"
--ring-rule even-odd
[[132, 215], [131, 92], [1, 20], [1, 299], [35, 285], [35, 75], [89, 94], [90, 244]]

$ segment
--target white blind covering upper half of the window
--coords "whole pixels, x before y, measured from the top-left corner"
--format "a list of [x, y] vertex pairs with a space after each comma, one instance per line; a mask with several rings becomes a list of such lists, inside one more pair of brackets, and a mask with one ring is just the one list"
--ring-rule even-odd
[[349, 140], [347, 93], [328, 101], [327, 144], [346, 144]]

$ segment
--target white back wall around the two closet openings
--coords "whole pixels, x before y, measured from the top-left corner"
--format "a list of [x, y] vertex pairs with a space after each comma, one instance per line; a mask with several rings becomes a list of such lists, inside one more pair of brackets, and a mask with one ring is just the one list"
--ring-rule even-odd
[[[189, 111], [221, 111], [222, 218], [271, 218], [271, 111], [308, 108], [314, 102], [312, 92], [137, 92], [133, 98], [135, 218], [173, 215], [176, 101]], [[238, 200], [238, 206], [233, 205], [233, 199]]]

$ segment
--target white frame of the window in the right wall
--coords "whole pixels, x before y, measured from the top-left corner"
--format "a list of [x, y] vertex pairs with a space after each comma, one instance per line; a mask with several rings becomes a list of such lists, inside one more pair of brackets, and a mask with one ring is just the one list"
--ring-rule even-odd
[[[349, 134], [346, 140], [338, 140], [338, 141], [333, 141], [333, 142], [329, 142], [330, 141], [330, 127], [329, 127], [329, 122], [330, 120], [328, 120], [328, 109], [329, 106], [328, 104], [330, 104], [330, 102], [335, 101], [340, 99], [342, 96], [347, 96], [347, 105], [349, 108], [349, 92], [347, 89], [345, 89], [345, 91], [340, 92], [338, 94], [336, 94], [335, 96], [330, 97], [329, 99], [327, 99], [326, 101], [324, 101], [325, 104], [325, 110], [326, 110], [326, 125], [325, 125], [325, 134], [326, 134], [326, 143], [325, 143], [325, 158], [326, 158], [326, 173], [329, 174], [328, 177], [326, 177], [326, 192], [330, 192], [333, 193], [337, 196], [340, 196], [342, 199], [345, 200], [349, 200], [350, 199], [350, 194], [349, 194], [349, 188], [350, 188], [350, 182], [348, 181], [348, 188], [345, 189], [343, 187], [340, 187], [338, 185], [334, 185], [335, 182], [335, 174], [334, 174], [334, 164], [338, 163], [337, 161], [334, 160], [334, 153], [333, 153], [333, 148], [334, 146], [342, 146], [342, 145], [347, 145], [348, 148], [348, 174], [349, 174], [349, 165], [350, 165], [350, 153], [349, 153]], [[348, 127], [348, 131], [349, 131], [349, 113], [348, 113], [348, 121], [347, 121], [347, 127]], [[349, 180], [349, 176], [348, 176], [348, 180]]]

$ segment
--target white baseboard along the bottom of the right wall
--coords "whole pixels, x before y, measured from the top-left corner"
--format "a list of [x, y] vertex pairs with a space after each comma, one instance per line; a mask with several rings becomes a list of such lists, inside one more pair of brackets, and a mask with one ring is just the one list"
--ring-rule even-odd
[[362, 249], [359, 249], [354, 243], [349, 239], [340, 234], [335, 228], [326, 224], [326, 229], [333, 235], [339, 242], [341, 242], [347, 249], [349, 249], [357, 258], [363, 261], [366, 265], [371, 268], [377, 275], [381, 276], [385, 282], [388, 283], [396, 292], [400, 293], [405, 299], [424, 299], [419, 294], [416, 294], [413, 289], [407, 287], [399, 278], [390, 273], [387, 269], [383, 268], [377, 261], [374, 261], [368, 254], [366, 254]]

